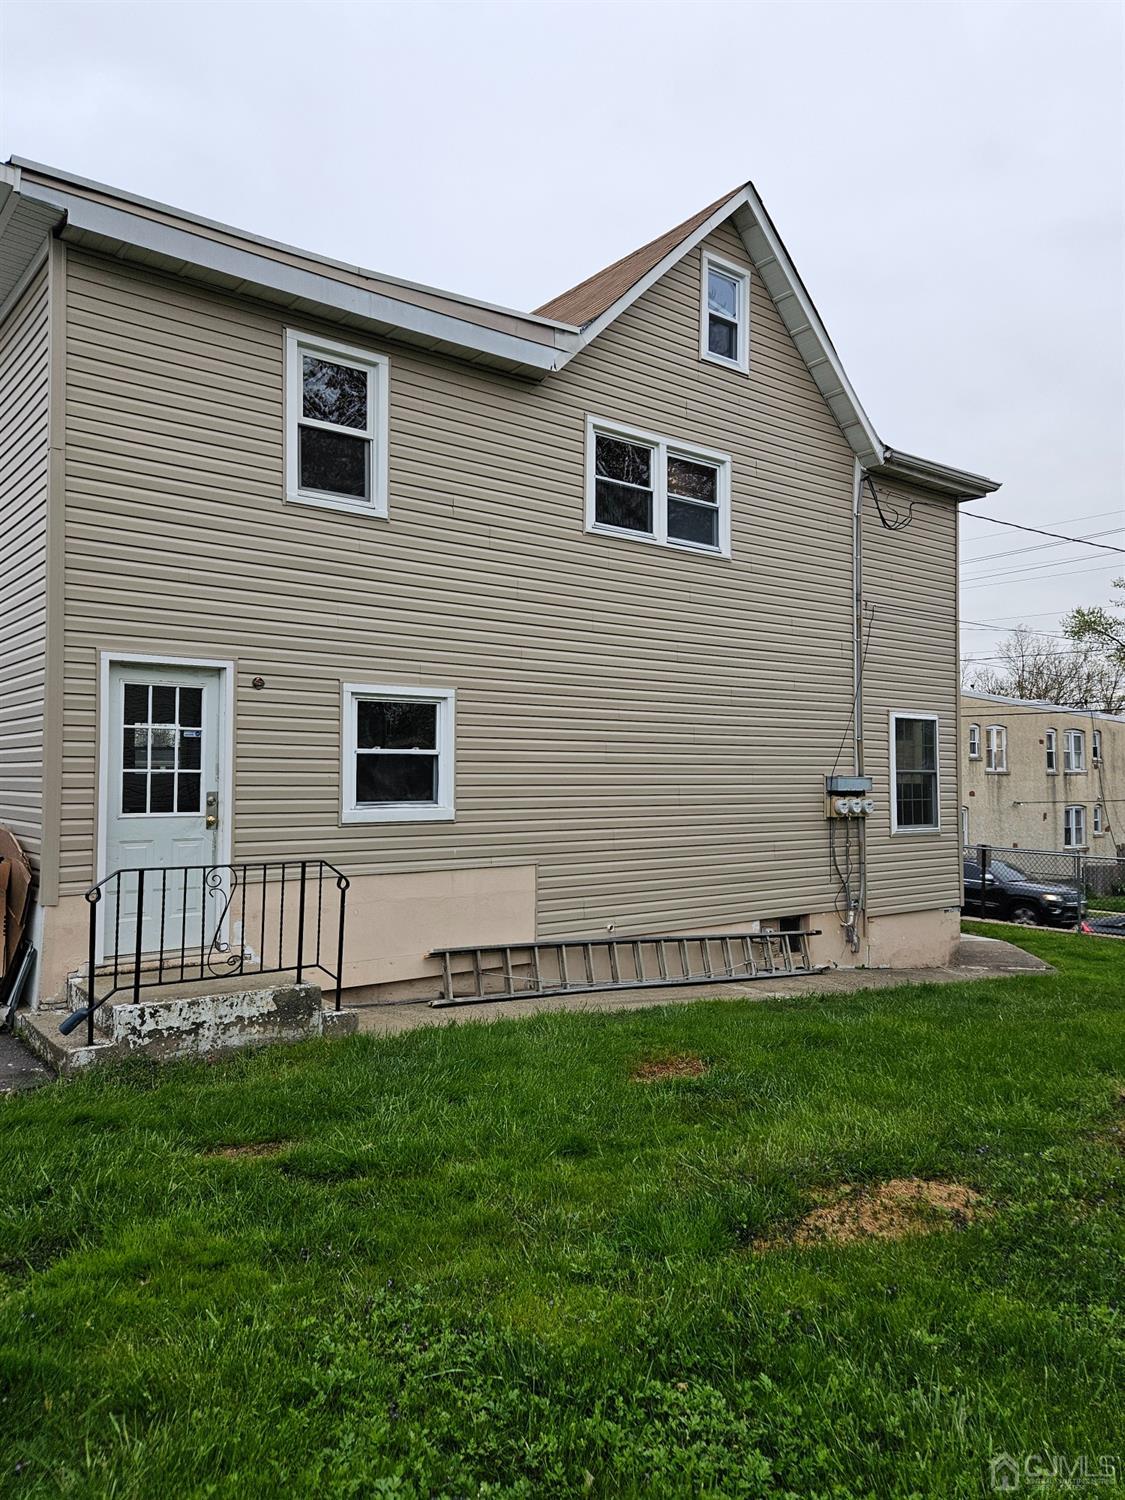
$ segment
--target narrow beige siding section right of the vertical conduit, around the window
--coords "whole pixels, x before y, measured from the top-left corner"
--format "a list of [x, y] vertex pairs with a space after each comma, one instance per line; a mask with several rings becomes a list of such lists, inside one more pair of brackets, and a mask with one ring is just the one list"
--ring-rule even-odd
[[[874, 777], [867, 826], [867, 910], [921, 912], [960, 904], [957, 794], [957, 507], [879, 484], [862, 498], [862, 580], [870, 644], [864, 670], [864, 770]], [[940, 834], [891, 834], [891, 712], [939, 716]]]

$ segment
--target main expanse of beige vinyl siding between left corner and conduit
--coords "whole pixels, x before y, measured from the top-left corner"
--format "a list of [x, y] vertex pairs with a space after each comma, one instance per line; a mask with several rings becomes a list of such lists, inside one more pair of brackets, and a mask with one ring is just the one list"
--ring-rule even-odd
[[[706, 248], [748, 264], [726, 226]], [[544, 934], [831, 908], [852, 454], [756, 278], [748, 380], [699, 360], [699, 250], [538, 386], [364, 340], [380, 522], [282, 501], [274, 309], [69, 264], [69, 890], [122, 648], [237, 662], [237, 860], [536, 862]], [[732, 560], [585, 532], [588, 412], [732, 456]], [[454, 824], [340, 826], [342, 681], [458, 690]]]

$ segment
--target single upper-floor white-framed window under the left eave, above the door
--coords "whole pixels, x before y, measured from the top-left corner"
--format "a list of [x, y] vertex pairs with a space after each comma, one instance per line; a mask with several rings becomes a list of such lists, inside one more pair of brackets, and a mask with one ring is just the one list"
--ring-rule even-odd
[[384, 354], [285, 332], [285, 498], [387, 514]]

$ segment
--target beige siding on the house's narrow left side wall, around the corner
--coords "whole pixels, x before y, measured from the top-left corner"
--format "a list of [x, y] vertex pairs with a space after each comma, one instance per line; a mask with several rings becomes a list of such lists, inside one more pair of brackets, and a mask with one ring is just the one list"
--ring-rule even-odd
[[0, 326], [0, 822], [36, 868], [44, 822], [48, 279]]

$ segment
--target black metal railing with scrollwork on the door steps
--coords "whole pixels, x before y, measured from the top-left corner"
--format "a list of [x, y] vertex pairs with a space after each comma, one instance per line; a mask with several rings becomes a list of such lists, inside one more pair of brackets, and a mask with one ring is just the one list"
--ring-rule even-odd
[[350, 885], [327, 860], [114, 870], [86, 892], [87, 1004], [58, 1030], [86, 1022], [93, 1044], [94, 1011], [114, 994], [262, 974], [327, 975], [339, 1010]]

